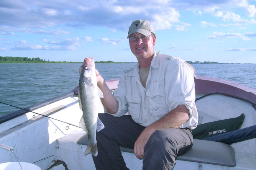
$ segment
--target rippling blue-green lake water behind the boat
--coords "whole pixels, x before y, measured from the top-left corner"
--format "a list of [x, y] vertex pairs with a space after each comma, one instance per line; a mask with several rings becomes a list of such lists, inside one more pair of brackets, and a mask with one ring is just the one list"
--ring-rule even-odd
[[[81, 64], [0, 64], [0, 101], [26, 108], [70, 92]], [[96, 64], [105, 80], [118, 78], [135, 64]], [[255, 64], [192, 64], [196, 75], [221, 78], [256, 89]], [[0, 116], [18, 109], [0, 103]]]

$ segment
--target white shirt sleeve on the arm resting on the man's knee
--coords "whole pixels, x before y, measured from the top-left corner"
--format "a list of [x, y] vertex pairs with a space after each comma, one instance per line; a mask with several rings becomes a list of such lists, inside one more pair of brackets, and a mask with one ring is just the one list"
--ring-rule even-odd
[[189, 110], [190, 118], [180, 127], [194, 129], [197, 126], [198, 114], [195, 106], [194, 68], [185, 62], [175, 65], [175, 69], [169, 70], [172, 74], [166, 74], [166, 104], [169, 110], [185, 105]]

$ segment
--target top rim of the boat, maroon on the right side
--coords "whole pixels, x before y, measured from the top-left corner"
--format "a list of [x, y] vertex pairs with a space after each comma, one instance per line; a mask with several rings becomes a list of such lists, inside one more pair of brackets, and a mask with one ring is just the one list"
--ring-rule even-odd
[[[213, 78], [213, 77], [206, 77], [201, 75], [195, 75], [194, 81], [195, 81], [196, 94], [222, 93], [225, 95], [235, 96], [236, 98], [244, 99], [246, 101], [253, 103], [254, 106], [256, 105], [256, 90], [253, 88], [247, 87], [245, 85], [241, 85], [239, 83], [231, 82], [228, 80], [223, 80], [223, 79]], [[113, 78], [110, 80], [106, 80], [105, 82], [107, 83], [108, 88], [110, 90], [114, 90], [115, 88], [117, 88], [119, 78]], [[36, 103], [27, 108], [24, 108], [25, 110], [17, 110], [13, 113], [7, 114], [5, 116], [1, 116], [0, 124], [27, 113], [28, 111], [26, 110], [33, 111], [40, 107], [43, 107], [51, 103], [54, 103], [56, 101], [67, 98], [69, 96], [76, 95], [77, 94], [76, 91], [78, 91], [78, 87], [76, 87], [71, 92], [64, 93], [60, 96], [42, 101], [40, 103]]]

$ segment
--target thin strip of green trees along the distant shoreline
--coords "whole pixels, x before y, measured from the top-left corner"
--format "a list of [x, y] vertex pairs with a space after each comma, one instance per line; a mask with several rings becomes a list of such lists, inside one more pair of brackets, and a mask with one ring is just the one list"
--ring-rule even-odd
[[[253, 64], [253, 63], [219, 63], [216, 61], [186, 61], [189, 64]], [[68, 62], [68, 61], [46, 61], [45, 59], [40, 59], [39, 57], [2, 57], [0, 56], [0, 63], [83, 63], [83, 62]], [[95, 61], [95, 63], [137, 63], [137, 62], [114, 62], [114, 61]]]

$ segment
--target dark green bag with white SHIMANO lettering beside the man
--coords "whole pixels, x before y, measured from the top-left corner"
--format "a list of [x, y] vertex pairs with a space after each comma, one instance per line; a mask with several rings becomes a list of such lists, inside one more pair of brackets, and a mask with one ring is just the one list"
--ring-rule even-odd
[[224, 134], [226, 132], [235, 131], [241, 128], [244, 120], [245, 114], [242, 113], [237, 118], [230, 118], [220, 121], [199, 124], [197, 125], [197, 128], [192, 130], [193, 138], [204, 139], [207, 137]]

